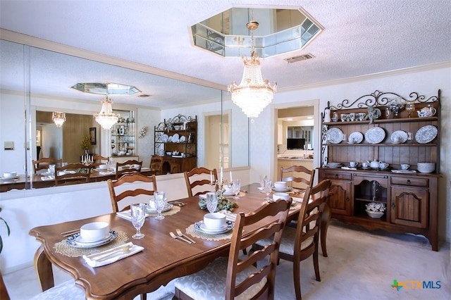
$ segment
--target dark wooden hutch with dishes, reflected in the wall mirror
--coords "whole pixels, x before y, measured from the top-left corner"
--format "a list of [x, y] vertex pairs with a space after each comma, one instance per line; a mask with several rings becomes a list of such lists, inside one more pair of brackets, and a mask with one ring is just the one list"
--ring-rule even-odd
[[197, 166], [197, 116], [176, 115], [154, 128], [154, 155], [161, 156], [161, 174]]

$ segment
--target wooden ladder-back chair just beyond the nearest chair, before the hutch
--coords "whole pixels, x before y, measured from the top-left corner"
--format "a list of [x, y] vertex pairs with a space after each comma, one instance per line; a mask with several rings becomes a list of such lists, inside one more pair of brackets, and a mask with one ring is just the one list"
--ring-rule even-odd
[[[297, 218], [297, 227], [285, 227], [280, 241], [279, 258], [293, 263], [293, 280], [296, 299], [301, 299], [301, 261], [312, 256], [316, 281], [319, 275], [319, 227], [321, 214], [329, 196], [330, 180], [322, 180], [314, 187], [307, 187]], [[263, 249], [270, 239], [261, 239], [252, 245], [252, 251]]]

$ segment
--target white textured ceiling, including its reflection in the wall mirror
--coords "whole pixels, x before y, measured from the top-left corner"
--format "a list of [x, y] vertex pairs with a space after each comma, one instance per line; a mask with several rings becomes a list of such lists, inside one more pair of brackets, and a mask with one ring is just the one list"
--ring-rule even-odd
[[[226, 88], [232, 80], [241, 80], [242, 60], [193, 47], [190, 26], [232, 6], [302, 7], [325, 28], [304, 50], [261, 61], [264, 77], [277, 81], [279, 90], [451, 61], [449, 0], [1, 0], [0, 27]], [[15, 78], [6, 78], [5, 72], [21, 57], [8, 48], [2, 44], [0, 87], [16, 89]], [[290, 64], [284, 61], [307, 53], [315, 58]], [[128, 96], [127, 101], [145, 106], [209, 101], [217, 95], [211, 94], [211, 89], [202, 89], [198, 94], [204, 94], [204, 98], [194, 98], [192, 85], [168, 83], [115, 66], [80, 63], [73, 57], [55, 58], [44, 51], [32, 52], [31, 61], [39, 65], [32, 65], [32, 92], [38, 94], [97, 101], [99, 95], [86, 96], [68, 88], [75, 82], [94, 80], [135, 85], [152, 96]], [[199, 92], [199, 87], [194, 90]]]

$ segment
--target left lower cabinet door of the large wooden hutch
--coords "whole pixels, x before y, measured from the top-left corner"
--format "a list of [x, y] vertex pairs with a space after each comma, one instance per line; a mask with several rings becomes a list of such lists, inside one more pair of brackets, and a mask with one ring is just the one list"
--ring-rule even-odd
[[344, 180], [330, 180], [328, 205], [332, 213], [351, 215], [351, 182]]

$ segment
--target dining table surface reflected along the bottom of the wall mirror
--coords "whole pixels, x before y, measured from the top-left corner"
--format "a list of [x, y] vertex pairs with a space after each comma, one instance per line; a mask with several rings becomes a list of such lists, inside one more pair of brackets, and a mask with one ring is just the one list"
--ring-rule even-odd
[[[142, 168], [141, 174], [146, 176], [156, 175], [158, 170], [151, 170], [150, 168]], [[89, 182], [99, 182], [109, 179], [115, 179], [116, 174], [113, 172], [106, 172], [106, 170], [94, 169], [89, 176]], [[44, 174], [33, 174], [30, 177], [19, 175], [18, 178], [5, 179], [0, 178], [0, 192], [8, 192], [11, 189], [39, 189], [43, 187], [53, 187], [55, 185], [54, 179], [49, 179]]]

